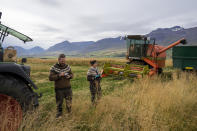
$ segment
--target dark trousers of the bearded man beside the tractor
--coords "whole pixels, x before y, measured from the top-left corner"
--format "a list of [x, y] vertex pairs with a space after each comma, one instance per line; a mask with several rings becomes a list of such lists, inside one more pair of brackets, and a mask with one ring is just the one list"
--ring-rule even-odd
[[55, 97], [56, 97], [56, 104], [57, 104], [57, 111], [62, 113], [62, 104], [63, 100], [66, 100], [66, 108], [68, 112], [71, 112], [72, 106], [72, 89], [71, 88], [59, 88], [55, 89]]

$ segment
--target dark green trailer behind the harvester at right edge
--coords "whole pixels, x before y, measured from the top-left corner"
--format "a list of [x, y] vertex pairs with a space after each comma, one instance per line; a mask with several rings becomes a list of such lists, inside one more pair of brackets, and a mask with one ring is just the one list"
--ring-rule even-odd
[[175, 46], [172, 58], [174, 68], [197, 70], [197, 46]]

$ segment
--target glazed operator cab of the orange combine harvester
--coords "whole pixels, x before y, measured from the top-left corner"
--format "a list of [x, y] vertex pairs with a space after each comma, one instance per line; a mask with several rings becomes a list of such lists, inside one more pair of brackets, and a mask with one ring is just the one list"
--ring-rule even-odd
[[127, 59], [141, 60], [147, 56], [149, 44], [155, 44], [155, 39], [143, 35], [128, 35], [125, 37], [127, 43]]

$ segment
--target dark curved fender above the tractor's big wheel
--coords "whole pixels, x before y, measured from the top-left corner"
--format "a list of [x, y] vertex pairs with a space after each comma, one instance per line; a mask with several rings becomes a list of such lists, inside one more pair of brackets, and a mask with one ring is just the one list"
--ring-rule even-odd
[[6, 63], [0, 62], [0, 73], [2, 74], [12, 74], [21, 78], [26, 83], [30, 84], [34, 89], [38, 89], [37, 86], [30, 79], [28, 74], [24, 71], [21, 65], [16, 63]]

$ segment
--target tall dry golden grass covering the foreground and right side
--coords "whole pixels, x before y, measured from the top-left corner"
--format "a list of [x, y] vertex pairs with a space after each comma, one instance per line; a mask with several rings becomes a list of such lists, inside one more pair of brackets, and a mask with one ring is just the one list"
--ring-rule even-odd
[[117, 84], [96, 107], [91, 106], [88, 89], [75, 91], [72, 113], [64, 113], [59, 119], [55, 119], [54, 97], [47, 97], [37, 111], [25, 117], [20, 130], [194, 131], [197, 130], [196, 81], [194, 74], [181, 73], [177, 77], [174, 73], [170, 81], [146, 77], [124, 86]]

